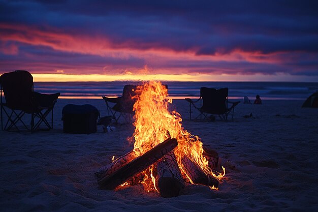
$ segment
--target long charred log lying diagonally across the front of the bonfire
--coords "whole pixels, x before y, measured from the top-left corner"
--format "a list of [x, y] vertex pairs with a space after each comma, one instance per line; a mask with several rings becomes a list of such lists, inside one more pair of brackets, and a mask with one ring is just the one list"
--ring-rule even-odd
[[145, 170], [150, 165], [161, 159], [164, 155], [169, 153], [178, 145], [175, 138], [169, 138], [164, 142], [156, 145], [144, 155], [139, 156], [132, 160], [130, 163], [125, 164], [116, 171], [110, 171], [109, 175], [105, 175], [98, 180], [100, 188], [111, 190], [122, 184], [126, 179], [136, 175], [137, 173]]

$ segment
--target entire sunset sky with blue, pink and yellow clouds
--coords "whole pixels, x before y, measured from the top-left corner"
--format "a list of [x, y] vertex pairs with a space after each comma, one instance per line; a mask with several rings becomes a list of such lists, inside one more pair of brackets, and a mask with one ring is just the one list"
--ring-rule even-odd
[[3, 1], [0, 74], [318, 81], [318, 1]]

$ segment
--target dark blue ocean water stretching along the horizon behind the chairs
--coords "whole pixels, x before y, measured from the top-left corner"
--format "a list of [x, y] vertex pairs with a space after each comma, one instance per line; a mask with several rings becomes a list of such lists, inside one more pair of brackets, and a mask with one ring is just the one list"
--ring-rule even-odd
[[[35, 82], [40, 93], [60, 92], [65, 99], [99, 99], [101, 96], [119, 97], [125, 84], [140, 82]], [[198, 98], [200, 87], [228, 87], [229, 99], [304, 100], [318, 90], [318, 82], [163, 82], [168, 85], [172, 99]]]

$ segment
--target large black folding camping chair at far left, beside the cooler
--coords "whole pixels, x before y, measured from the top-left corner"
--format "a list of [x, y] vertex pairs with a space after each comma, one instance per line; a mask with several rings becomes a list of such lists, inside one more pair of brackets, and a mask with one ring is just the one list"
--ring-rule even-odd
[[[14, 71], [0, 76], [1, 87], [1, 129], [10, 131], [15, 127], [18, 131], [21, 123], [33, 132], [42, 123], [53, 129], [53, 107], [60, 93], [41, 94], [34, 92], [33, 76], [28, 71]], [[3, 93], [6, 102], [3, 102]], [[46, 117], [51, 112], [51, 124]], [[8, 119], [4, 126], [4, 113]], [[31, 114], [30, 128], [24, 123], [24, 114]], [[24, 121], [23, 121], [24, 120]]]

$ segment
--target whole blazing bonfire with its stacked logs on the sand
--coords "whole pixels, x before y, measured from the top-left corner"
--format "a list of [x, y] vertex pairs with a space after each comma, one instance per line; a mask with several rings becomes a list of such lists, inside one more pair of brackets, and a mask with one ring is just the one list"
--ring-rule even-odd
[[[181, 115], [171, 110], [167, 86], [147, 82], [137, 87], [134, 149], [95, 172], [102, 189], [142, 184], [147, 192], [178, 196], [186, 183], [217, 189], [225, 175], [218, 156], [203, 147], [198, 136], [182, 127]], [[213, 151], [212, 151], [213, 153]]]

